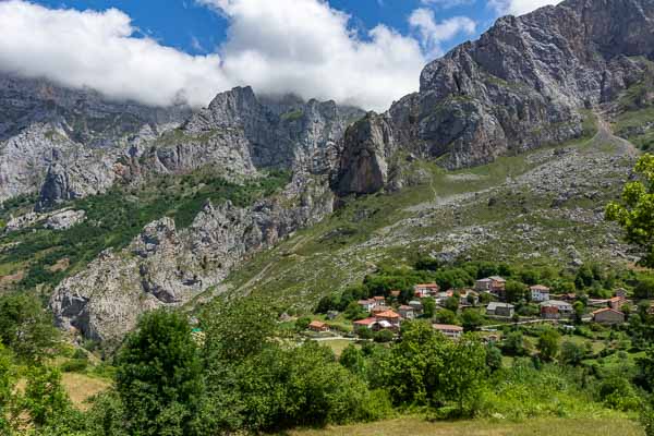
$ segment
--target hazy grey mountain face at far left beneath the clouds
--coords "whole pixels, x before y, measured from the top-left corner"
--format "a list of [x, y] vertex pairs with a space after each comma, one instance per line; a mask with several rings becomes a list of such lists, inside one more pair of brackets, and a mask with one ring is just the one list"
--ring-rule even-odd
[[52, 205], [104, 192], [120, 150], [190, 114], [184, 105], [150, 108], [0, 73], [0, 201], [41, 192]]

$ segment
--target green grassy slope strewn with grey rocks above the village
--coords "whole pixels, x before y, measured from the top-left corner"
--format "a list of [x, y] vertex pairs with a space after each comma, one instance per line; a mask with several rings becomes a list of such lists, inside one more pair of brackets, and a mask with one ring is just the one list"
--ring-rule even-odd
[[379, 265], [426, 254], [533, 266], [627, 264], [634, 257], [604, 221], [603, 206], [619, 195], [634, 153], [594, 116], [584, 125], [573, 143], [473, 169], [407, 162], [412, 185], [347, 198], [323, 222], [244, 264], [228, 289], [306, 307]]

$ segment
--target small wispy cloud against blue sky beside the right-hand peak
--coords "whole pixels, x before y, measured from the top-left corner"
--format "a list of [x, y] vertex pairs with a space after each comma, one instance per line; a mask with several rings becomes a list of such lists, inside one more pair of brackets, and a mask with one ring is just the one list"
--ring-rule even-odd
[[434, 11], [426, 8], [413, 11], [409, 24], [420, 34], [423, 49], [431, 57], [443, 55], [443, 41], [457, 35], [472, 35], [476, 29], [476, 23], [467, 16], [452, 16], [437, 23]]

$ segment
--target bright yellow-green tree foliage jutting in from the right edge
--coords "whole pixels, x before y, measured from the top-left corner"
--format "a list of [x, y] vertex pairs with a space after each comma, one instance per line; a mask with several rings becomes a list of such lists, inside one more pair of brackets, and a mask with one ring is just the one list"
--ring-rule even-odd
[[634, 168], [640, 180], [629, 182], [620, 203], [610, 203], [606, 219], [618, 222], [628, 242], [645, 252], [642, 265], [654, 267], [654, 155], [641, 156]]

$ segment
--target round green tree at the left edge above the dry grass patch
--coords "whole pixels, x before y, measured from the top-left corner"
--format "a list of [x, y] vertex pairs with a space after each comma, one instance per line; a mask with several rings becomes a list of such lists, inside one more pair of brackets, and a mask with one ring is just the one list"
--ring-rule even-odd
[[52, 317], [35, 296], [14, 293], [0, 298], [0, 341], [17, 358], [41, 361], [57, 343]]

